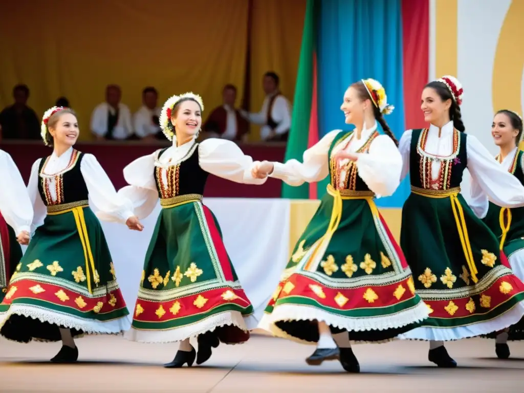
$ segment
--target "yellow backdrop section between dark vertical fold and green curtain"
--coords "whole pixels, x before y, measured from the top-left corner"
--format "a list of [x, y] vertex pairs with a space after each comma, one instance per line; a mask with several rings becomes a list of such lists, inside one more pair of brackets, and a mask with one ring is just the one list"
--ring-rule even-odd
[[[275, 71], [280, 90], [293, 100], [306, 0], [253, 0], [251, 36], [250, 111], [264, 102], [262, 75]], [[309, 116], [309, 114], [308, 114]], [[260, 140], [260, 127], [252, 126], [250, 140]]]

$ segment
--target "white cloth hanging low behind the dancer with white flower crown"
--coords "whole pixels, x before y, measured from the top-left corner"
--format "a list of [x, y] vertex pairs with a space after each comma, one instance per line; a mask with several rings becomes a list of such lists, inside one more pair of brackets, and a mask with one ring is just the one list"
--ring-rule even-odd
[[[205, 198], [218, 220], [236, 274], [260, 320], [289, 256], [290, 200]], [[149, 239], [160, 204], [143, 220], [143, 232], [102, 222], [116, 277], [132, 313]]]

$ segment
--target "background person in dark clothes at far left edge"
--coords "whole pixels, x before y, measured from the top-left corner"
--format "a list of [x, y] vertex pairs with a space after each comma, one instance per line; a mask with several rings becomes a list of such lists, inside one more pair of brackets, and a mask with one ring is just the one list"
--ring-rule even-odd
[[0, 132], [3, 139], [40, 139], [40, 120], [29, 106], [29, 88], [17, 84], [13, 89], [15, 103], [0, 112]]

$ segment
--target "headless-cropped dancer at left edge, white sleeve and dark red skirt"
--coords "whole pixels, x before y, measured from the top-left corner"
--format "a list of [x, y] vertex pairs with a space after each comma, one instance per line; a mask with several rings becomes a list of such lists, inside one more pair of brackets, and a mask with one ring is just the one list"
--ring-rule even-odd
[[[9, 279], [22, 257], [20, 244], [29, 243], [32, 205], [26, 185], [15, 162], [0, 150], [0, 302], [7, 292]], [[18, 244], [20, 243], [20, 244]], [[0, 318], [7, 310], [0, 304]]]

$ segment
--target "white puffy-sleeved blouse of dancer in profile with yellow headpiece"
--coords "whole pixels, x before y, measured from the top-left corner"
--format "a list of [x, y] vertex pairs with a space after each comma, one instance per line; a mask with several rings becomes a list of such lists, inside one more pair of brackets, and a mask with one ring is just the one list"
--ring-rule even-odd
[[[341, 150], [355, 152], [367, 142], [368, 138], [377, 129], [375, 123], [372, 127], [362, 130], [360, 139], [356, 134], [346, 137], [332, 151], [332, 154]], [[304, 151], [303, 162], [291, 159], [286, 163], [274, 162], [274, 170], [270, 177], [285, 181], [289, 185], [301, 185], [304, 182], [316, 182], [329, 175], [330, 146], [339, 133], [340, 129], [335, 129], [326, 134], [316, 145]], [[400, 184], [400, 172], [402, 170], [402, 157], [394, 141], [387, 135], [379, 135], [373, 139], [369, 146], [368, 153], [358, 153], [356, 166], [358, 176], [366, 183], [377, 197], [392, 195]], [[349, 160], [344, 159], [341, 164]], [[344, 173], [341, 174], [341, 186], [344, 187]]]

